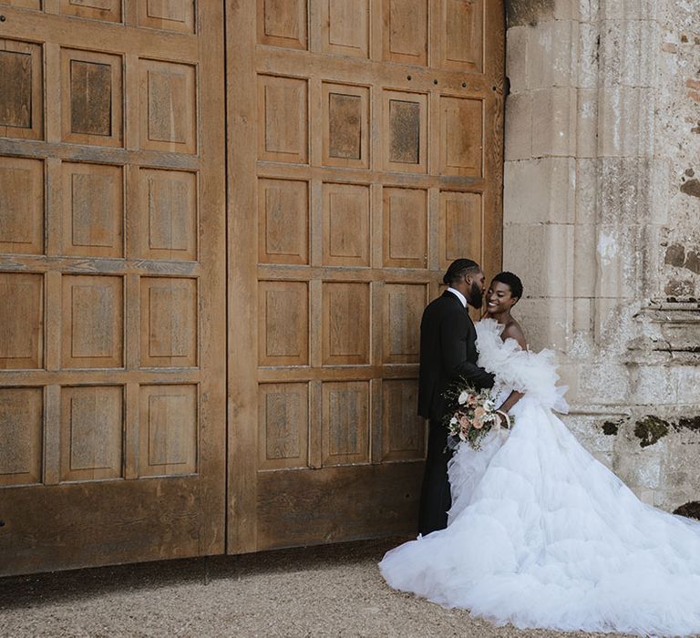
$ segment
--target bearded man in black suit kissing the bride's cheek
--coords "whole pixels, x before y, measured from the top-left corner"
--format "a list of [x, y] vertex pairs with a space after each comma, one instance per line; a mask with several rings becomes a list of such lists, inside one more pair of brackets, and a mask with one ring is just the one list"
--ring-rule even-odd
[[445, 451], [448, 430], [442, 417], [448, 408], [443, 395], [460, 377], [477, 388], [493, 386], [493, 375], [477, 365], [477, 333], [467, 310], [467, 304], [481, 307], [484, 273], [477, 262], [458, 259], [449, 264], [442, 281], [448, 289], [427, 305], [420, 322], [418, 415], [430, 419], [418, 512], [418, 531], [424, 536], [448, 526], [452, 502], [448, 483], [452, 454]]

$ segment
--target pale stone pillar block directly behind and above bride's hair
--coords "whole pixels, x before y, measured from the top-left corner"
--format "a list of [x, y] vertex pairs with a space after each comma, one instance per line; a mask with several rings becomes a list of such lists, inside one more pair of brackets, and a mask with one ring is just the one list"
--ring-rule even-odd
[[570, 297], [573, 227], [569, 224], [504, 224], [503, 265], [519, 273], [530, 297]]

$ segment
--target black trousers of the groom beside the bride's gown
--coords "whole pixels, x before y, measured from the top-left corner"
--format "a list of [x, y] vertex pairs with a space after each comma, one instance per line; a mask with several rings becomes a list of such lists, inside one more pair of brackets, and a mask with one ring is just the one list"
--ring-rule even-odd
[[420, 489], [418, 532], [425, 536], [431, 531], [448, 527], [448, 509], [452, 506], [449, 493], [448, 460], [452, 450], [446, 451], [448, 431], [439, 421], [430, 421], [427, 435], [426, 471]]

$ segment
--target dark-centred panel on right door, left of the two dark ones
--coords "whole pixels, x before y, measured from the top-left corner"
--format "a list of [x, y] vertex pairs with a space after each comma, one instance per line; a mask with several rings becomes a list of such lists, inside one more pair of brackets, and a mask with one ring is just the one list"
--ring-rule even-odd
[[369, 168], [369, 89], [324, 82], [324, 164]]

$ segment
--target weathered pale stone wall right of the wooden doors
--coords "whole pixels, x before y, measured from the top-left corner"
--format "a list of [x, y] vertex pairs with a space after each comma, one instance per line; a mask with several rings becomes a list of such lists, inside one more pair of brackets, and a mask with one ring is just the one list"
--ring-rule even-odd
[[646, 502], [700, 501], [696, 0], [510, 0], [504, 267], [566, 422]]

